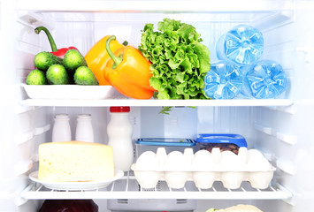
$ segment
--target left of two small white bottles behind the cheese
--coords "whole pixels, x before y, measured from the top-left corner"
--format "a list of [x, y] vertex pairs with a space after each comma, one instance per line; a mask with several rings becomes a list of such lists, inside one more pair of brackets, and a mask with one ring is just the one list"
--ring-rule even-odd
[[52, 142], [72, 140], [68, 114], [57, 114], [54, 119], [55, 124], [52, 128]]

